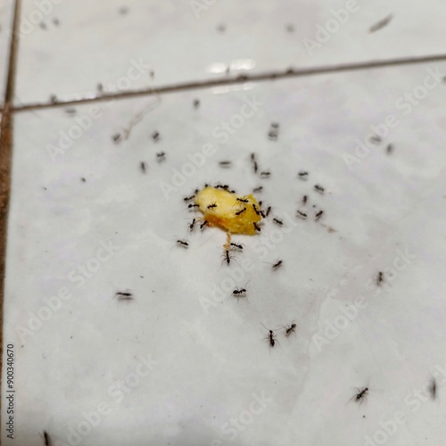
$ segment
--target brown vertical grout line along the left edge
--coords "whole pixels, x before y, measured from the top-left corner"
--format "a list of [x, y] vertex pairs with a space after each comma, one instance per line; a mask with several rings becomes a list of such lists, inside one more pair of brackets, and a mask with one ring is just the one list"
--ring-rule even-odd
[[[4, 333], [4, 284], [6, 264], [6, 240], [8, 229], [8, 208], [11, 192], [12, 167], [12, 99], [14, 95], [15, 72], [17, 62], [19, 17], [21, 0], [14, 2], [14, 15], [12, 22], [11, 45], [8, 62], [8, 78], [4, 94], [4, 110], [0, 120], [0, 391], [3, 376], [3, 333]], [[1, 399], [3, 400], [3, 399]], [[0, 421], [2, 418], [2, 404], [0, 401]], [[1, 439], [0, 439], [1, 442]]]

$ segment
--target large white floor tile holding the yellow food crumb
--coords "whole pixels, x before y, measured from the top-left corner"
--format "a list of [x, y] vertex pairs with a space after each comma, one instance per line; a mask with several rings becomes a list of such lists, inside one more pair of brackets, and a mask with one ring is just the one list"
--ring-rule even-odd
[[[442, 444], [443, 70], [17, 113], [4, 304], [17, 425], [3, 444], [44, 430], [56, 444], [374, 444], [383, 425], [392, 445]], [[233, 236], [244, 249], [228, 266], [223, 231], [187, 228], [199, 215], [183, 198], [206, 182], [262, 186], [272, 206], [260, 234]]]

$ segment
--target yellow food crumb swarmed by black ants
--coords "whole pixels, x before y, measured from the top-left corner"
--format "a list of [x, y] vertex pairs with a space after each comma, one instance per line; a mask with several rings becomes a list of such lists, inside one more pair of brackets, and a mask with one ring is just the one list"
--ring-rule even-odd
[[252, 194], [242, 196], [208, 186], [195, 194], [195, 203], [208, 226], [220, 227], [231, 234], [254, 235], [257, 232], [254, 223], [261, 219], [257, 213], [260, 205]]

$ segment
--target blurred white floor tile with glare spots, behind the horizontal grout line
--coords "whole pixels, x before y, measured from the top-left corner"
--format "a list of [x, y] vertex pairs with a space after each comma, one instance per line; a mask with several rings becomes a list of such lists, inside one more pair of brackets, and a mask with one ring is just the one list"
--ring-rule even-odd
[[436, 55], [446, 37], [442, 0], [22, 3], [17, 104]]

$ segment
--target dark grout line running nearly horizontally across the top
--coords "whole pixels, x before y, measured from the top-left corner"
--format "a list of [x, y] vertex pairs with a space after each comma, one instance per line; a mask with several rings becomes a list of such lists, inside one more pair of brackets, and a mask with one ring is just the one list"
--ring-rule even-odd
[[141, 90], [125, 91], [117, 94], [100, 95], [92, 98], [76, 99], [72, 101], [61, 101], [57, 103], [29, 103], [19, 106], [12, 105], [11, 111], [20, 112], [20, 111], [53, 109], [68, 105], [97, 103], [108, 100], [128, 99], [132, 97], [147, 96], [147, 95], [161, 95], [167, 93], [182, 92], [187, 90], [198, 90], [209, 87], [225, 87], [230, 85], [243, 84], [246, 82], [261, 82], [261, 81], [276, 80], [282, 78], [301, 78], [307, 76], [317, 76], [322, 74], [348, 72], [348, 71], [376, 70], [380, 68], [390, 68], [401, 65], [417, 65], [427, 62], [446, 62], [446, 54], [437, 54], [437, 55], [421, 56], [421, 57], [407, 57], [402, 59], [390, 59], [386, 61], [377, 61], [377, 62], [344, 63], [339, 65], [307, 68], [300, 70], [289, 68], [284, 71], [272, 71], [268, 73], [255, 74], [251, 76], [247, 74], [242, 74], [239, 75], [237, 78], [203, 80], [201, 82], [191, 81], [191, 82], [186, 82], [184, 84], [170, 85], [165, 87], [155, 87], [155, 88], [143, 88]]

